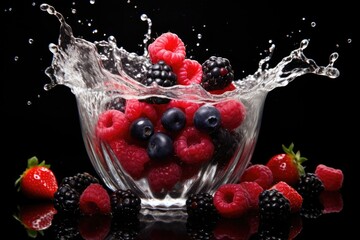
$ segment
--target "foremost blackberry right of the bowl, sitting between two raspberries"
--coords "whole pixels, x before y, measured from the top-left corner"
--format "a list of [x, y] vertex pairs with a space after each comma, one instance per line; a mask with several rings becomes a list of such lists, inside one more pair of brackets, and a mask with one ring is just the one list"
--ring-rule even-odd
[[276, 189], [267, 189], [259, 196], [260, 219], [284, 220], [290, 216], [290, 202]]

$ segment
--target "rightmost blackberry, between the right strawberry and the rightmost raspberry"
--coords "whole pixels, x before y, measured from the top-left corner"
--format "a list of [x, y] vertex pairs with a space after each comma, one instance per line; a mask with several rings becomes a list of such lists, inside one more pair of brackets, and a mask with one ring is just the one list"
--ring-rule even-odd
[[305, 173], [300, 176], [296, 190], [303, 198], [315, 198], [324, 191], [324, 184], [315, 173]]

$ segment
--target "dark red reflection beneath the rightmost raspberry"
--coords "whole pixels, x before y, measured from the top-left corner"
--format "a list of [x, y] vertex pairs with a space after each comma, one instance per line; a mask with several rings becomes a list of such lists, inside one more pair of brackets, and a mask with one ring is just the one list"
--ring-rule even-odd
[[338, 191], [322, 191], [319, 200], [324, 214], [341, 212], [344, 206], [342, 195]]

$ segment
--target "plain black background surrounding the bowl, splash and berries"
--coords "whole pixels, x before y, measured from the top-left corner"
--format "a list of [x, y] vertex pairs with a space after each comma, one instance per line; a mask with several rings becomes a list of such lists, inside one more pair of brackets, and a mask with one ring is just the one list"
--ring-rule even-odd
[[[25, 230], [12, 214], [22, 200], [14, 182], [28, 158], [36, 155], [46, 160], [58, 179], [79, 171], [94, 173], [82, 142], [74, 96], [63, 86], [51, 91], [43, 89], [50, 81], [44, 73], [52, 59], [48, 45], [57, 43], [59, 22], [40, 10], [41, 3], [9, 0], [1, 1], [0, 8], [0, 146], [5, 186], [1, 195], [6, 200], [1, 215], [5, 220], [2, 233], [8, 232], [11, 239], [26, 239]], [[252, 161], [265, 163], [282, 151], [281, 144], [293, 142], [295, 150], [309, 159], [305, 163], [307, 171], [313, 171], [319, 163], [341, 169], [345, 175], [341, 189], [343, 210], [314, 220], [305, 219], [296, 239], [337, 239], [337, 234], [346, 238], [355, 232], [350, 225], [357, 217], [354, 191], [358, 186], [355, 165], [359, 107], [355, 86], [359, 78], [356, 74], [359, 52], [355, 50], [358, 13], [353, 3], [339, 1], [317, 6], [307, 1], [280, 4], [229, 0], [46, 3], [65, 16], [75, 36], [96, 41], [113, 35], [119, 46], [137, 53], [143, 51], [141, 43], [147, 25], [140, 15], [146, 13], [153, 23], [152, 37], [166, 31], [177, 33], [187, 45], [188, 56], [199, 62], [210, 55], [226, 57], [238, 79], [256, 71], [270, 40], [276, 45], [270, 65], [278, 63], [305, 38], [310, 39], [305, 54], [319, 65], [327, 65], [330, 54], [338, 52], [335, 63], [340, 70], [338, 78], [305, 75], [268, 94]]]

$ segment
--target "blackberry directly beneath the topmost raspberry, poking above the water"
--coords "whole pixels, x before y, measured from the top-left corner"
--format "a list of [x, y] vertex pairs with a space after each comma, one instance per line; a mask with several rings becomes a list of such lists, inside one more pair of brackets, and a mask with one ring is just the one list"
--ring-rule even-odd
[[[177, 76], [172, 68], [161, 60], [151, 65], [146, 73], [146, 77], [142, 79], [141, 83], [145, 86], [156, 83], [162, 87], [171, 87], [177, 84]], [[150, 97], [145, 99], [145, 102], [155, 104], [165, 104], [169, 101], [170, 99], [160, 97]]]

